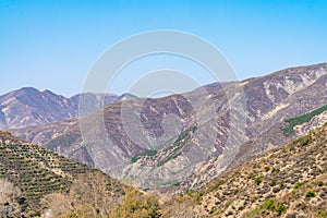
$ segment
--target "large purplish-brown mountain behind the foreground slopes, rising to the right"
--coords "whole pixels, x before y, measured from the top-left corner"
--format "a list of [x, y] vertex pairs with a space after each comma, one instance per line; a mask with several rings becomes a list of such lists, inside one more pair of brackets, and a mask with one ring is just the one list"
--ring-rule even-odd
[[327, 64], [292, 68], [186, 94], [117, 101], [80, 120], [12, 132], [143, 187], [197, 187], [237, 157], [246, 159], [243, 146], [271, 126], [327, 105], [326, 83]]

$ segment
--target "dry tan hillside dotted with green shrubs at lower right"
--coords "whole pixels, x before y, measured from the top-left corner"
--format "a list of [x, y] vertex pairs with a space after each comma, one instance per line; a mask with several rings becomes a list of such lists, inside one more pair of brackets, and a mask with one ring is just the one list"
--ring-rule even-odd
[[327, 123], [164, 206], [162, 217], [327, 217]]

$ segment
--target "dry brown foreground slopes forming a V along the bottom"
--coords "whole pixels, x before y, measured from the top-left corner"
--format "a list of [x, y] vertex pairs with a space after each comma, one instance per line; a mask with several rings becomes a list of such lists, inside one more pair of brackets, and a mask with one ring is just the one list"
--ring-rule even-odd
[[[196, 128], [184, 135], [194, 131]], [[175, 145], [184, 140], [178, 138]], [[189, 190], [172, 198], [162, 195], [160, 201], [165, 203], [159, 205], [154, 195], [0, 132], [0, 215], [326, 217], [326, 148], [327, 123], [242, 164], [201, 190]]]

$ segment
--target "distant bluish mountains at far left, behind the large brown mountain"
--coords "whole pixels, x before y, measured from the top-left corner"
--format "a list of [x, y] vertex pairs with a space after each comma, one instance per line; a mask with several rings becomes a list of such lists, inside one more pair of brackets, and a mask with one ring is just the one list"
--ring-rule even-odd
[[[50, 90], [40, 92], [33, 87], [24, 87], [0, 96], [0, 129], [16, 129], [77, 118], [81, 96], [85, 102], [83, 116], [126, 98], [113, 94], [93, 93], [77, 94], [66, 98]], [[132, 97], [129, 94], [126, 96]]]

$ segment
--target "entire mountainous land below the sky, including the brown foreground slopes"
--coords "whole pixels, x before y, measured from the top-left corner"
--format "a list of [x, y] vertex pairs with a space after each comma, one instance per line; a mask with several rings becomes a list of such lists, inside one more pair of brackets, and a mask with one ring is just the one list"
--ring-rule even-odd
[[0, 215], [327, 217], [326, 86], [322, 63], [161, 98], [11, 92]]

